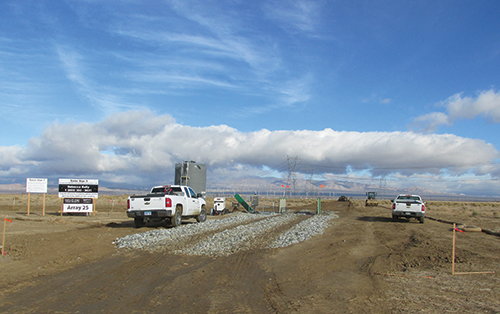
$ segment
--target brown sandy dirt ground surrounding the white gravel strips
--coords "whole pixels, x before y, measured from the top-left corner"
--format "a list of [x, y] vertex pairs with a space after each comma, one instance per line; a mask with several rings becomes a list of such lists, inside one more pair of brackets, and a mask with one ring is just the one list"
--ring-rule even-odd
[[[124, 197], [100, 199], [88, 217], [60, 216], [53, 198], [45, 216], [32, 199], [27, 216], [25, 196], [1, 197], [0, 214], [13, 221], [0, 257], [2, 313], [500, 312], [497, 273], [452, 274], [450, 224], [393, 222], [388, 202], [322, 200], [339, 215], [324, 234], [212, 258], [116, 249], [118, 237], [167, 228], [133, 228]], [[315, 201], [289, 209], [314, 212]], [[498, 232], [499, 212], [498, 203], [430, 202], [427, 214]], [[499, 265], [500, 237], [456, 233], [456, 272]]]

